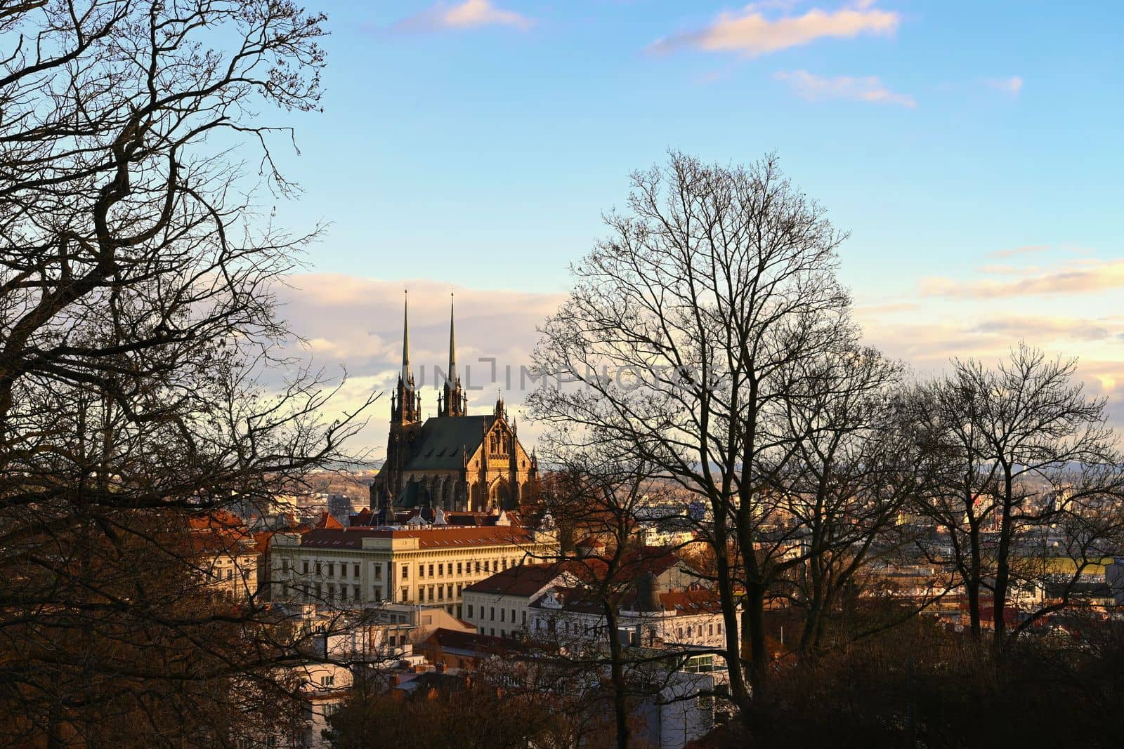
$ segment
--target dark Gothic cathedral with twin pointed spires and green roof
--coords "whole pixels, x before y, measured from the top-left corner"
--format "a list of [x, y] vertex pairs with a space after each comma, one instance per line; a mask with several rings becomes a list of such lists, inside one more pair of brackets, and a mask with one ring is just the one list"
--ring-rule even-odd
[[469, 415], [469, 398], [456, 372], [452, 303], [448, 369], [437, 395], [437, 415], [424, 421], [410, 371], [408, 303], [402, 317], [402, 371], [391, 394], [387, 460], [371, 484], [371, 509], [491, 512], [518, 506], [537, 481], [538, 467], [508, 422], [501, 396], [491, 413]]

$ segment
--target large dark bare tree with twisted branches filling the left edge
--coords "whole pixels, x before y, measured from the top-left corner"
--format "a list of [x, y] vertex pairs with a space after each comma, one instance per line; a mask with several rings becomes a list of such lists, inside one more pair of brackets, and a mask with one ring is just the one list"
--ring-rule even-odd
[[292, 190], [257, 112], [318, 107], [321, 24], [274, 0], [0, 7], [0, 711], [22, 746], [223, 746], [271, 719], [232, 694], [285, 696], [266, 676], [298, 642], [207, 596], [184, 533], [359, 427], [277, 354], [271, 284], [316, 231], [255, 198]]

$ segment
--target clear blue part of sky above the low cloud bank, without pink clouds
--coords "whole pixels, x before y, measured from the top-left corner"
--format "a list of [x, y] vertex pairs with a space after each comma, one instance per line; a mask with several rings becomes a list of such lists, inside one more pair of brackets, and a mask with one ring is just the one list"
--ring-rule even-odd
[[[1067, 4], [882, 2], [891, 35], [746, 58], [647, 51], [744, 8], [731, 3], [505, 0], [492, 6], [533, 26], [416, 31], [393, 27], [433, 3], [325, 3], [325, 112], [299, 124], [294, 216], [334, 222], [317, 270], [409, 276], [425, 258], [429, 277], [495, 285], [505, 264], [505, 283], [550, 291], [631, 170], [668, 147], [722, 162], [777, 150], [853, 231], [856, 285], [1006, 247], [1120, 250], [1124, 8]], [[817, 7], [846, 6], [761, 12]], [[774, 77], [791, 71], [878, 76], [916, 106], [808, 101]], [[1012, 76], [1017, 92], [989, 85]]]

